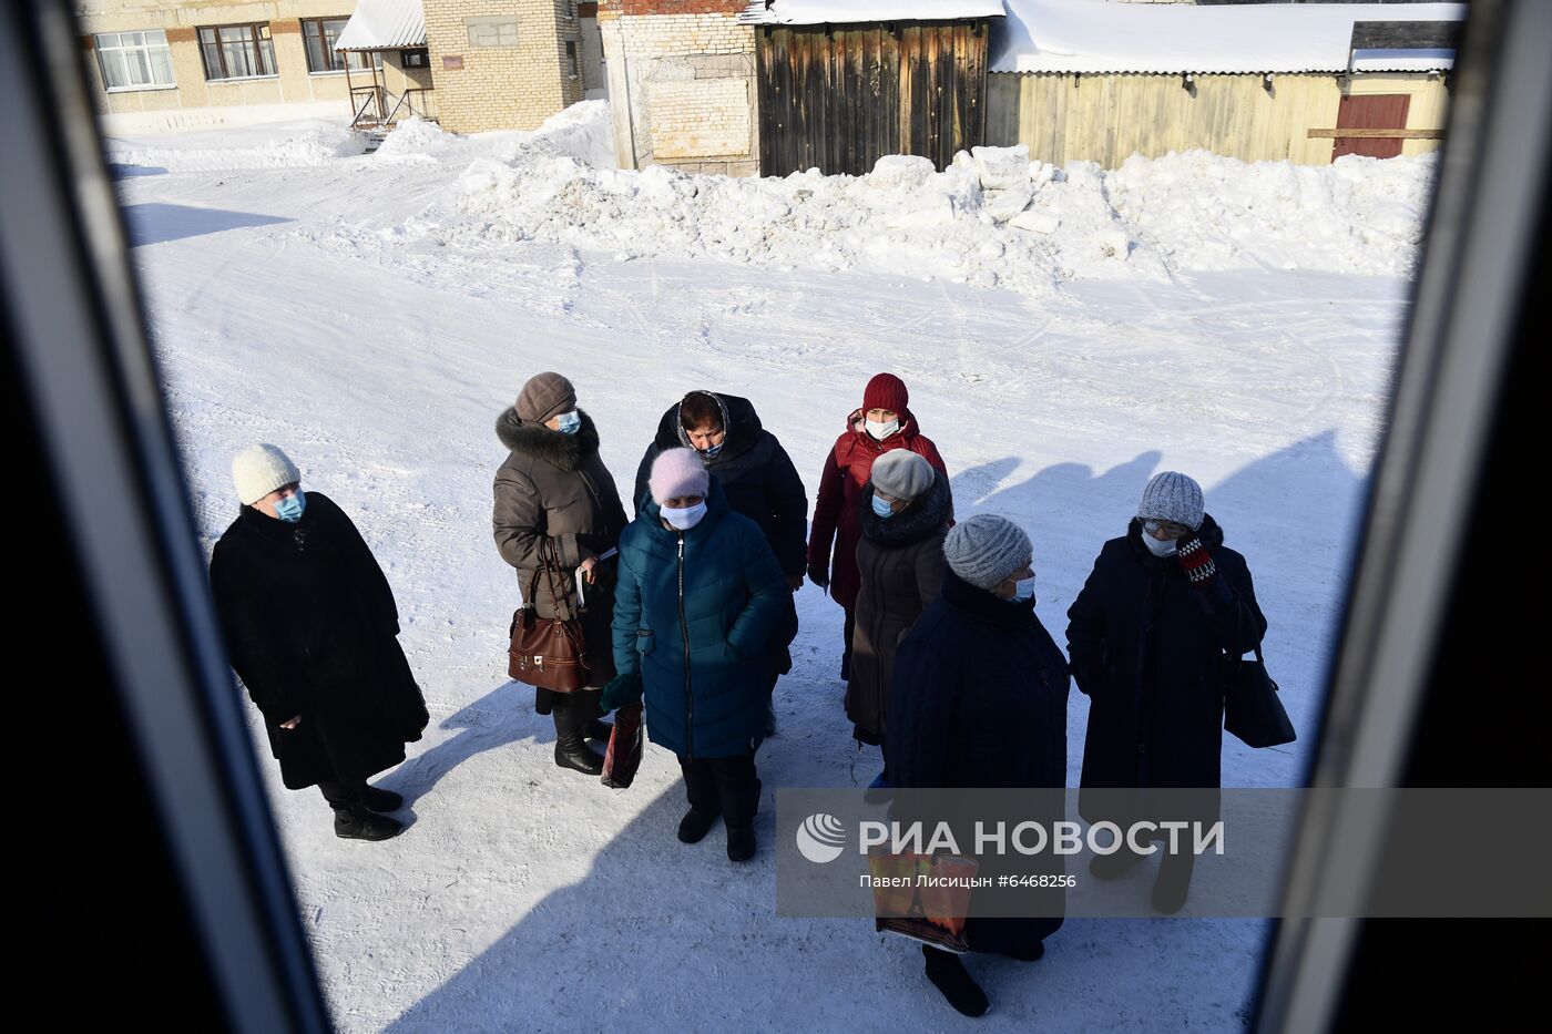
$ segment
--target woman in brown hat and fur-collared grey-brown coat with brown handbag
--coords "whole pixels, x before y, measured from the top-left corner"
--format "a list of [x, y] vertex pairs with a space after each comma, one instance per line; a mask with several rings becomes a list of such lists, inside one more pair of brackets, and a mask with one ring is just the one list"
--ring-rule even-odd
[[[495, 474], [492, 529], [501, 559], [517, 568], [520, 592], [534, 585], [540, 564], [559, 567], [557, 590], [546, 578], [532, 601], [540, 618], [582, 619], [588, 646], [588, 682], [576, 692], [535, 689], [534, 708], [556, 720], [556, 764], [599, 775], [604, 758], [588, 739], [608, 739], [599, 696], [615, 677], [610, 627], [615, 618], [615, 560], [604, 554], [619, 543], [625, 509], [615, 478], [598, 455], [598, 429], [571, 382], [557, 373], [535, 374], [517, 404], [495, 424], [509, 455]], [[576, 573], [585, 582], [577, 599]]]

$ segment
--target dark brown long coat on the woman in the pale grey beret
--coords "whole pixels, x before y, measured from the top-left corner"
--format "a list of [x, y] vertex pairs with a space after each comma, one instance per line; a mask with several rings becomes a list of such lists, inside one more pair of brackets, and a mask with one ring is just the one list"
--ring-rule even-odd
[[857, 739], [882, 744], [894, 654], [944, 585], [944, 536], [948, 534], [948, 478], [939, 474], [925, 495], [888, 520], [872, 511], [869, 481], [857, 505], [857, 627], [846, 717]]

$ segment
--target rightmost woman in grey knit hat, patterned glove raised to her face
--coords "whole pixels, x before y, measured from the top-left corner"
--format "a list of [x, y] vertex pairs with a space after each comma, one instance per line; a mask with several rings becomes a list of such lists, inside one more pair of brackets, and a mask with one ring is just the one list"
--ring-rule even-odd
[[[1252, 651], [1266, 618], [1245, 557], [1223, 545], [1197, 481], [1173, 470], [1148, 481], [1127, 534], [1100, 550], [1068, 619], [1072, 675], [1090, 697], [1083, 818], [1161, 818], [1131, 795], [1117, 795], [1121, 787], [1217, 790], [1223, 655]], [[1218, 795], [1201, 795], [1189, 810], [1175, 818], [1215, 821]], [[1159, 854], [1153, 904], [1178, 911], [1193, 855]], [[1127, 849], [1096, 855], [1090, 871], [1114, 879], [1142, 857]]]

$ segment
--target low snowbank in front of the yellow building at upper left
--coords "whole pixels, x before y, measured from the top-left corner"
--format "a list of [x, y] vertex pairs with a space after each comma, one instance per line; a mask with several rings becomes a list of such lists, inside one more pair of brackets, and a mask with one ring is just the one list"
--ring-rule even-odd
[[154, 137], [107, 137], [112, 165], [183, 171], [329, 165], [366, 149], [362, 134], [327, 120], [273, 123]]

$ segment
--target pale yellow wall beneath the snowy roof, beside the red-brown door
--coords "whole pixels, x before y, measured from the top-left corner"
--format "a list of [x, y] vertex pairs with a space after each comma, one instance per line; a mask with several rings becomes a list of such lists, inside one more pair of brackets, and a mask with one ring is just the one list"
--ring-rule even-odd
[[[1212, 151], [1245, 161], [1293, 160], [1325, 165], [1341, 90], [1332, 75], [1279, 75], [1271, 93], [1262, 78], [1195, 76], [1195, 96], [1178, 75], [993, 73], [987, 82], [989, 144], [1029, 144], [1032, 158], [1065, 165], [1097, 161], [1116, 168], [1133, 154]], [[1366, 75], [1353, 95], [1411, 96], [1406, 129], [1442, 129], [1448, 92], [1426, 75]], [[1423, 154], [1437, 140], [1408, 140], [1403, 154]]]

